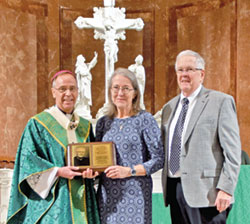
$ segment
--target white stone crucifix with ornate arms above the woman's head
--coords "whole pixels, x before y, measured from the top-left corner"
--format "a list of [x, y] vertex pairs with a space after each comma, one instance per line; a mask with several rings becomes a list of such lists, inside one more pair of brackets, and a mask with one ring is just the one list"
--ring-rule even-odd
[[75, 24], [79, 29], [94, 29], [94, 38], [104, 40], [105, 52], [105, 104], [108, 103], [108, 80], [114, 72], [119, 51], [118, 40], [125, 40], [125, 29], [141, 31], [143, 20], [126, 19], [125, 8], [117, 8], [115, 0], [104, 0], [104, 8], [94, 7], [93, 18], [79, 16]]

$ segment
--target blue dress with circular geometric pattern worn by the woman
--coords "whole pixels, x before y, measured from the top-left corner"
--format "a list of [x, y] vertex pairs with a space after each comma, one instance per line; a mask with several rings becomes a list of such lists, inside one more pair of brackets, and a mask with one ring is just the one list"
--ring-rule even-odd
[[100, 118], [96, 141], [112, 141], [116, 146], [117, 165], [132, 167], [143, 164], [146, 176], [123, 179], [101, 174], [98, 202], [103, 224], [152, 223], [151, 174], [163, 167], [164, 152], [160, 129], [153, 116], [145, 111], [113, 120]]

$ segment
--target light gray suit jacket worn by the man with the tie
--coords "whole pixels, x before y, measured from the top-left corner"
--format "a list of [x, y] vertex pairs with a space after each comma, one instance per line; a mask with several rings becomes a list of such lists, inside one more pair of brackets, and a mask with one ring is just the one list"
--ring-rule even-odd
[[[173, 98], [162, 110], [161, 129], [166, 155], [162, 187], [166, 206], [169, 127], [179, 99], [180, 96]], [[241, 143], [234, 99], [202, 87], [180, 157], [181, 182], [187, 203], [191, 207], [214, 206], [218, 189], [233, 195], [240, 163]]]

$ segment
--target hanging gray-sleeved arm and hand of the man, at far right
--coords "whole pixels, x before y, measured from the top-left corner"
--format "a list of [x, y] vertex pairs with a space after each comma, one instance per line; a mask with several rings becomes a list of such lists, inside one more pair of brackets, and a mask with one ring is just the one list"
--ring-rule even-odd
[[241, 164], [241, 142], [233, 98], [226, 97], [221, 105], [218, 135], [223, 150], [224, 162], [217, 185], [215, 201], [217, 210], [224, 211], [231, 203]]

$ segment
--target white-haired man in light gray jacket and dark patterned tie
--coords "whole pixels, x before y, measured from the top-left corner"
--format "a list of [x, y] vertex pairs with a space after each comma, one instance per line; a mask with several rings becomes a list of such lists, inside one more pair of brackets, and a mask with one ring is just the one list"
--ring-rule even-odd
[[181, 94], [162, 110], [162, 187], [174, 224], [226, 223], [234, 202], [241, 163], [235, 102], [203, 87], [204, 69], [198, 53], [179, 53], [175, 70]]

